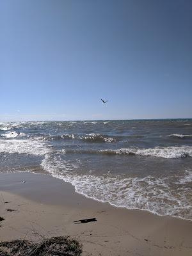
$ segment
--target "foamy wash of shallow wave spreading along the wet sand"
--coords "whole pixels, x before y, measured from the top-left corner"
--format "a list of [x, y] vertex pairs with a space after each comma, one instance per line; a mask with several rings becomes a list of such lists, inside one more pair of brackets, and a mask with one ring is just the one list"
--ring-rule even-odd
[[[175, 187], [167, 180], [170, 177], [144, 178], [125, 177], [120, 175], [86, 175], [80, 174], [81, 162], [71, 163], [59, 156], [46, 154], [42, 161], [42, 167], [53, 177], [70, 182], [80, 193], [88, 198], [100, 202], [108, 202], [116, 207], [127, 209], [141, 209], [158, 215], [177, 216], [179, 218], [191, 218], [191, 202], [185, 196], [182, 185]], [[182, 188], [181, 188], [182, 187]]]

